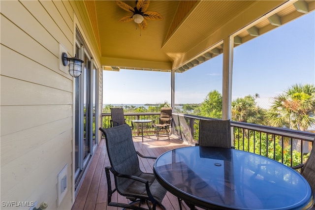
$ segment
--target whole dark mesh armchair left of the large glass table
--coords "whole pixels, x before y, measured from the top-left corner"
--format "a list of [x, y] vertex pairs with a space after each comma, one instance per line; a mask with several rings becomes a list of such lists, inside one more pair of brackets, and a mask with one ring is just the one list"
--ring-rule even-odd
[[[135, 150], [131, 129], [125, 123], [106, 129], [99, 128], [105, 135], [106, 148], [111, 166], [105, 167], [108, 206], [121, 207], [133, 210], [145, 210], [142, 204], [147, 204], [149, 210], [155, 210], [157, 205], [165, 210], [161, 204], [166, 190], [155, 179], [154, 174], [144, 173], [140, 170], [138, 155], [142, 158], [152, 158], [143, 156]], [[111, 175], [114, 175], [115, 188], [112, 189]], [[117, 191], [126, 197], [130, 204], [112, 202], [112, 194]]]

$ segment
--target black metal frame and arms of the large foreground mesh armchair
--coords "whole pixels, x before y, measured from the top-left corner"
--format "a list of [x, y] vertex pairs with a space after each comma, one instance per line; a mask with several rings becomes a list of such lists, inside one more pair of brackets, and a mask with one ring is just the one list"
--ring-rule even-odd
[[[126, 125], [124, 124], [124, 125], [120, 125], [120, 126], [126, 126]], [[109, 128], [109, 129], [111, 129], [111, 128]], [[102, 128], [99, 128], [99, 130], [105, 135], [105, 138], [106, 138], [107, 135], [106, 135], [105, 131]], [[157, 157], [142, 155], [138, 151], [136, 151], [136, 153], [141, 158], [157, 159]], [[114, 180], [115, 180], [115, 187], [114, 187], [114, 189], [112, 189], [112, 181], [111, 181], [110, 173], [112, 173], [114, 175]], [[114, 170], [114, 168], [111, 167], [111, 166], [106, 166], [105, 167], [105, 174], [106, 174], [106, 180], [107, 180], [107, 204], [108, 204], [108, 206], [120, 207], [120, 208], [125, 208], [125, 209], [132, 209], [132, 210], [148, 210], [148, 209], [149, 210], [156, 210], [156, 207], [160, 206], [163, 210], [166, 210], [166, 208], [161, 203], [159, 203], [154, 198], [153, 194], [151, 193], [149, 180], [143, 179], [141, 177], [137, 177], [135, 175], [120, 174], [119, 172]], [[152, 173], [147, 173], [147, 174], [152, 174]], [[127, 194], [127, 193], [120, 192], [119, 189], [117, 188], [117, 182], [116, 182], [116, 178], [117, 177], [131, 179], [131, 180], [136, 180], [136, 181], [139, 181], [141, 183], [144, 183], [145, 184], [145, 188], [146, 188], [146, 192], [147, 192], [147, 196], [139, 196], [139, 195], [134, 195], [132, 193]], [[127, 199], [129, 199], [132, 202], [129, 203], [129, 204], [112, 202], [112, 195], [116, 191], [120, 195], [126, 197]], [[147, 204], [148, 209], [145, 209], [145, 208], [141, 207], [141, 205], [144, 204], [144, 203]], [[138, 204], [138, 206], [135, 206], [136, 204]], [[151, 204], [152, 204], [152, 206], [151, 206]]]

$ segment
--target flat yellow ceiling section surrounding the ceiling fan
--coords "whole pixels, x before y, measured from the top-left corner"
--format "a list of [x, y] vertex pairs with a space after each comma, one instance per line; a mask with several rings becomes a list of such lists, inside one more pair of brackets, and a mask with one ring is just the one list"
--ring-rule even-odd
[[[135, 1], [124, 1], [131, 7], [135, 6]], [[98, 31], [100, 38], [101, 56], [108, 65], [116, 60], [136, 60], [166, 62], [172, 60], [162, 52], [161, 46], [166, 33], [173, 20], [179, 1], [159, 1], [150, 2], [148, 11], [160, 13], [163, 20], [148, 20], [146, 30], [140, 30], [136, 23], [118, 22], [121, 18], [131, 15], [120, 8], [114, 0], [95, 1]], [[132, 66], [126, 66], [132, 67]]]

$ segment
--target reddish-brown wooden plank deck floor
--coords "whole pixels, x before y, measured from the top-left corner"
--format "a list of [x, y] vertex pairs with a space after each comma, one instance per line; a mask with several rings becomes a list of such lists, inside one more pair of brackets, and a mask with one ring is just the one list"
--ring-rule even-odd
[[[183, 141], [170, 137], [170, 141], [165, 138], [160, 138], [158, 141], [155, 136], [144, 137], [142, 142], [141, 137], [134, 137], [133, 142], [136, 150], [147, 156], [158, 157], [165, 151], [175, 148], [187, 147], [188, 144]], [[145, 172], [153, 173], [154, 160], [140, 160], [140, 168]], [[106, 152], [105, 140], [102, 139], [91, 165], [86, 173], [82, 185], [78, 191], [76, 200], [72, 206], [72, 210], [118, 210], [116, 207], [107, 206], [107, 181], [104, 167], [109, 166], [109, 159]], [[113, 181], [112, 181], [113, 184]], [[115, 195], [112, 200], [126, 203], [126, 198]], [[114, 200], [114, 201], [115, 201]], [[167, 192], [162, 204], [167, 210], [179, 210], [177, 197]], [[183, 210], [189, 210], [186, 205], [182, 205]]]

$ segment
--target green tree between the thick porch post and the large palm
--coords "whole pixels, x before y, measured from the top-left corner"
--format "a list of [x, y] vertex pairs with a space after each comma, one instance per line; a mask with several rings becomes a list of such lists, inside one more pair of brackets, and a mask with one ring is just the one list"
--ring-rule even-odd
[[256, 106], [255, 99], [251, 95], [232, 101], [231, 109], [232, 120], [234, 121], [255, 124], [263, 124], [264, 122], [265, 110]]

